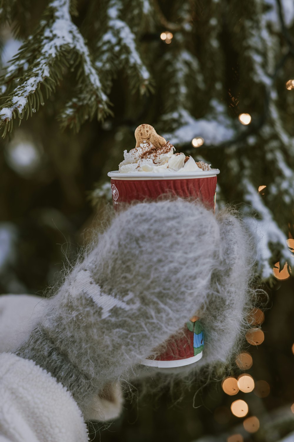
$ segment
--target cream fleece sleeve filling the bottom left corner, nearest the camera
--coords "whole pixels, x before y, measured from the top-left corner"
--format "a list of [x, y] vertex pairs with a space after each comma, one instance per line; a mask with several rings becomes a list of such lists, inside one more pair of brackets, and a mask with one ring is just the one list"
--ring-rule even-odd
[[0, 442], [87, 442], [71, 393], [33, 361], [0, 354]]

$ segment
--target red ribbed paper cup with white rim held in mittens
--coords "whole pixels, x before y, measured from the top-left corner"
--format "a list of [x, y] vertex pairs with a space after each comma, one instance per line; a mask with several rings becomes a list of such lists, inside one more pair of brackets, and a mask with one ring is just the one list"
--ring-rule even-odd
[[[216, 204], [216, 175], [219, 169], [195, 172], [108, 172], [111, 178], [113, 206], [133, 201], [156, 200], [169, 194], [200, 199], [213, 210]], [[182, 333], [171, 336], [164, 353], [156, 359], [144, 359], [143, 365], [173, 368], [192, 364], [202, 357], [203, 333], [198, 318], [191, 318]]]

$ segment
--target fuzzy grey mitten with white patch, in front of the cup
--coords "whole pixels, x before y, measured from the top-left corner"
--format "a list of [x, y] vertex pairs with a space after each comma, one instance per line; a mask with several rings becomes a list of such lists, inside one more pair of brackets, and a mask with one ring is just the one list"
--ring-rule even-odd
[[[221, 237], [230, 217], [218, 220], [181, 199], [119, 213], [48, 300], [16, 354], [52, 373], [84, 410], [93, 394], [148, 357], [205, 304], [217, 285], [212, 274], [230, 254]], [[226, 242], [234, 229], [238, 221]], [[246, 249], [246, 237], [240, 247]], [[247, 278], [246, 268], [238, 272]], [[246, 287], [247, 281], [243, 297]]]

